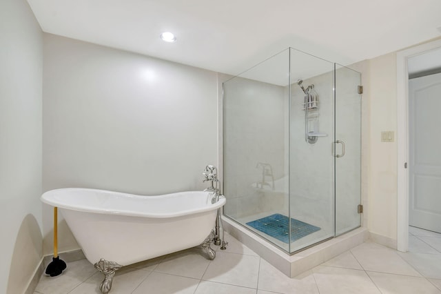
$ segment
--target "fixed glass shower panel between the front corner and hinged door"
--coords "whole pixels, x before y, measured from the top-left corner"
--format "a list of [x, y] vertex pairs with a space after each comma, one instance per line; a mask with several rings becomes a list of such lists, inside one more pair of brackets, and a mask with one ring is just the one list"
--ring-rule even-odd
[[289, 252], [334, 237], [334, 63], [291, 48]]

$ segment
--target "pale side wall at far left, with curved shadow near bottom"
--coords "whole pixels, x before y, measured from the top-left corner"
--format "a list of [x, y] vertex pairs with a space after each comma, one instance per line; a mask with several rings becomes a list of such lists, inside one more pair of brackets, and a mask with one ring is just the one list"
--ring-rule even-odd
[[24, 0], [0, 1], [0, 65], [0, 293], [23, 293], [42, 255], [43, 70], [42, 32]]

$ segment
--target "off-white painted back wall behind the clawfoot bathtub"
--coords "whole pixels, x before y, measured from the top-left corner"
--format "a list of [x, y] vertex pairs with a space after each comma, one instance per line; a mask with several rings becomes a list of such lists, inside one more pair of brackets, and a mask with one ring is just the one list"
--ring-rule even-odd
[[[45, 34], [43, 190], [203, 189], [218, 164], [217, 103], [216, 72]], [[59, 234], [60, 251], [78, 247], [63, 221]]]

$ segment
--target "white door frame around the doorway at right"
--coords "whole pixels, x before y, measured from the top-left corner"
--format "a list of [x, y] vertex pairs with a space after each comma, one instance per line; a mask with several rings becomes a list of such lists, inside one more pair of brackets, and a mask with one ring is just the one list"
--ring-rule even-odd
[[397, 52], [397, 249], [409, 246], [409, 58], [441, 47], [441, 39]]

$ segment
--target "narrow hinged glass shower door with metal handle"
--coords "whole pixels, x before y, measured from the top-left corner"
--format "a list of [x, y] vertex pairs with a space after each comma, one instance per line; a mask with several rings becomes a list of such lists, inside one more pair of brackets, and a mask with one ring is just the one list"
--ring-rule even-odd
[[336, 64], [336, 236], [361, 225], [361, 74]]

